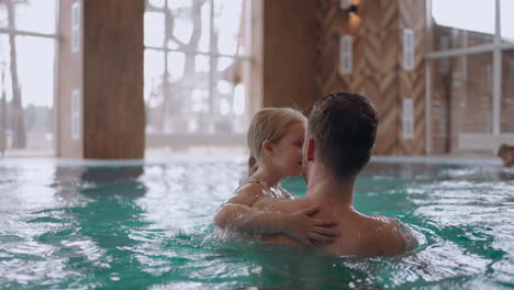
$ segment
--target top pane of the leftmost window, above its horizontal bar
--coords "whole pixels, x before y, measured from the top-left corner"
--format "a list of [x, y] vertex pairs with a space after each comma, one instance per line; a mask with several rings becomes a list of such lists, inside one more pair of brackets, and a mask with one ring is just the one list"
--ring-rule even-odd
[[[56, 11], [57, 1], [0, 1], [0, 25], [14, 26], [16, 30], [40, 32], [40, 33], [56, 33]], [[12, 9], [12, 10], [11, 10]], [[10, 14], [13, 13], [12, 21], [14, 25], [9, 25]]]

